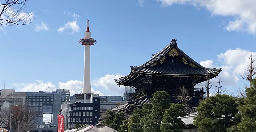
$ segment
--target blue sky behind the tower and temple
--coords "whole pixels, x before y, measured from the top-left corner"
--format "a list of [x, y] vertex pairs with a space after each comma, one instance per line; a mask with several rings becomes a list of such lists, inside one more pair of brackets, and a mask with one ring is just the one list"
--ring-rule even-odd
[[[59, 82], [83, 80], [84, 49], [78, 40], [84, 37], [88, 11], [92, 38], [97, 40], [91, 47], [92, 88], [102, 94], [122, 95], [120, 91], [124, 89], [118, 88], [113, 78], [129, 74], [131, 65], [143, 64], [173, 38], [198, 63], [212, 60], [204, 64], [231, 68], [226, 70], [232, 76], [226, 81], [231, 83], [223, 82], [228, 89], [242, 86], [243, 81], [234, 71], [246, 61], [246, 53], [255, 52], [255, 30], [246, 29], [255, 21], [243, 21], [243, 26], [231, 29], [230, 22], [244, 20], [241, 14], [227, 11], [221, 14], [218, 8], [210, 8], [201, 0], [193, 1], [197, 6], [186, 0], [173, 1], [54, 0], [50, 4], [43, 0], [29, 1], [25, 11], [35, 13], [33, 23], [0, 30], [0, 80], [6, 81], [6, 88], [15, 86], [18, 91], [43, 90], [48, 85], [58, 88]], [[74, 14], [80, 17], [73, 17]], [[74, 21], [79, 30], [58, 32], [60, 27]], [[48, 30], [36, 31], [37, 24], [42, 22]], [[244, 60], [238, 61], [239, 57]], [[238, 81], [234, 81], [235, 76]]]

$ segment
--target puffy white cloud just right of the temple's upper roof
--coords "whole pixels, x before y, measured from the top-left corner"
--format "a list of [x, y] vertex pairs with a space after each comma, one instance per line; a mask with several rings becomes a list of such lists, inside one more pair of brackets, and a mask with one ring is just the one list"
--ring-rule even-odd
[[224, 85], [235, 86], [240, 78], [239, 73], [245, 73], [245, 67], [250, 62], [247, 58], [249, 54], [256, 56], [256, 52], [250, 52], [241, 48], [228, 49], [226, 52], [217, 55], [218, 61], [223, 64], [222, 66], [215, 66], [212, 60], [201, 61], [200, 64], [206, 68], [222, 67], [223, 70], [219, 76], [212, 81], [217, 82], [221, 79]]

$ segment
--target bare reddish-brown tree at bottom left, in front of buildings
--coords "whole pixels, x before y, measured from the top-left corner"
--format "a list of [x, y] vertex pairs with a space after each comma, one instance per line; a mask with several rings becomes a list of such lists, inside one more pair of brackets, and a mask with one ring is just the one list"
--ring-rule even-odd
[[26, 105], [19, 106], [19, 109], [14, 109], [14, 107], [10, 107], [10, 109], [6, 110], [5, 113], [6, 114], [0, 116], [0, 120], [3, 122], [2, 128], [9, 131], [29, 131], [32, 130], [33, 127], [38, 123], [39, 114]]

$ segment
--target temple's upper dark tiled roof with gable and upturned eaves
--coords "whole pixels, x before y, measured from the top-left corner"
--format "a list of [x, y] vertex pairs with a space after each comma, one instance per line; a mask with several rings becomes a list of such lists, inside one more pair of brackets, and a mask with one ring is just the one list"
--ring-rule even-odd
[[[178, 54], [177, 56], [182, 56], [183, 59], [186, 60], [187, 65], [191, 67], [163, 67], [163, 66], [152, 66], [154, 63], [159, 63], [161, 59], [165, 56], [168, 56], [170, 52], [175, 52]], [[174, 54], [170, 54], [169, 56], [175, 56]], [[162, 61], [162, 63], [165, 63]], [[186, 64], [185, 64], [186, 65]], [[127, 77], [133, 75], [133, 71], [142, 72], [146, 74], [175, 74], [175, 75], [206, 75], [206, 74], [215, 74], [219, 73], [222, 70], [215, 68], [205, 68], [198, 64], [196, 61], [191, 59], [188, 55], [186, 55], [180, 48], [178, 48], [176, 39], [172, 39], [172, 43], [168, 44], [162, 50], [154, 54], [151, 59], [149, 59], [146, 63], [140, 66], [131, 66], [131, 72], [127, 76], [123, 76], [119, 79], [115, 79], [117, 83], [121, 82], [121, 80], [126, 79]]]

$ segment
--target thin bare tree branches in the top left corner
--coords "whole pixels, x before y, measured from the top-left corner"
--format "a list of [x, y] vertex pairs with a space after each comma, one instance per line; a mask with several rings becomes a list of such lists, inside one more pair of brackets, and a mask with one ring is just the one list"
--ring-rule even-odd
[[25, 13], [28, 0], [5, 0], [0, 3], [0, 25], [27, 25], [33, 22], [34, 13]]

